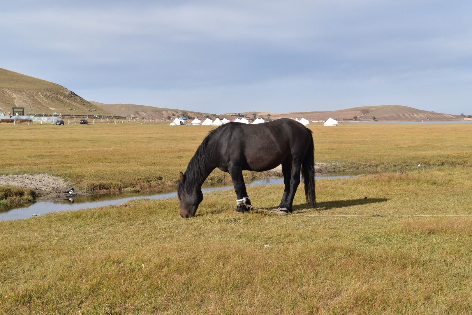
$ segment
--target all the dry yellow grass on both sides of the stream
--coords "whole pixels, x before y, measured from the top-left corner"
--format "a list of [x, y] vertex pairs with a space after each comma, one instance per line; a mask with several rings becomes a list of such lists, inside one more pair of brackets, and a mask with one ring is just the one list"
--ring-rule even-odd
[[[305, 209], [300, 187], [296, 213], [472, 214], [471, 126], [310, 128], [317, 161], [400, 172], [319, 180], [320, 211]], [[0, 136], [17, 139], [3, 148], [0, 170], [82, 187], [171, 183], [210, 129], [0, 126]], [[248, 187], [265, 209], [282, 190]], [[238, 215], [235, 198], [205, 194], [192, 220], [172, 198], [0, 222], [0, 314], [472, 311], [471, 218]]]

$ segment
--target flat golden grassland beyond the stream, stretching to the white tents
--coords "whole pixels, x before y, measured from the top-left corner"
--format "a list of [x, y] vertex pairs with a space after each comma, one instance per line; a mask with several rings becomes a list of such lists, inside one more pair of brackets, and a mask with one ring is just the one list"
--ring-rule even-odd
[[[371, 173], [431, 166], [471, 166], [471, 125], [312, 124], [317, 162], [338, 171]], [[176, 183], [212, 127], [168, 123], [85, 125], [0, 124], [8, 139], [0, 174], [48, 173], [87, 190]], [[247, 173], [246, 176], [253, 175]], [[209, 181], [229, 179], [215, 170]]]

